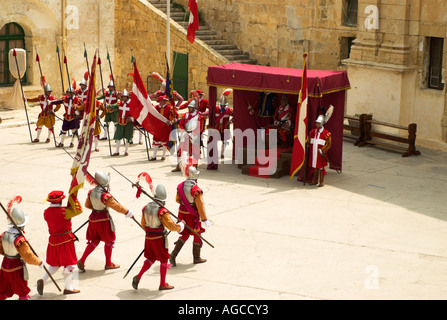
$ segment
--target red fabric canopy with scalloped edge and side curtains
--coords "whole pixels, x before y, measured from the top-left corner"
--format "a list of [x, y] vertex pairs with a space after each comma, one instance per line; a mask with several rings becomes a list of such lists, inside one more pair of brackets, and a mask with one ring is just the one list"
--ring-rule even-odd
[[[214, 101], [218, 101], [217, 87], [233, 89], [233, 129], [257, 129], [248, 106], [255, 106], [261, 92], [286, 94], [289, 104], [295, 109], [301, 89], [300, 69], [267, 67], [230, 63], [208, 68], [210, 124], [214, 124]], [[308, 70], [308, 119], [309, 130], [315, 127], [314, 120], [321, 108], [334, 106], [334, 112], [325, 128], [332, 133], [332, 147], [328, 157], [332, 169], [342, 169], [343, 121], [346, 90], [350, 88], [346, 71]], [[278, 99], [279, 100], [279, 99]], [[213, 106], [213, 107], [212, 107]]]

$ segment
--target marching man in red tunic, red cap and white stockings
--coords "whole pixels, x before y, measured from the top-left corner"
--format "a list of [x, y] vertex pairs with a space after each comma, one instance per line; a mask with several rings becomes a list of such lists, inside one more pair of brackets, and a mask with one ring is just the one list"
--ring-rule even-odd
[[[47, 247], [48, 272], [53, 275], [63, 267], [63, 276], [65, 281], [64, 294], [79, 293], [79, 289], [72, 286], [73, 270], [77, 264], [76, 249], [74, 242], [76, 236], [71, 232], [71, 216], [67, 207], [62, 206], [62, 200], [65, 198], [63, 191], [52, 191], [48, 194], [47, 201], [51, 203], [44, 211], [44, 219], [48, 225], [50, 237]], [[77, 206], [80, 208], [79, 202]], [[37, 281], [37, 292], [42, 295], [45, 281], [49, 275], [45, 273], [42, 279]]]

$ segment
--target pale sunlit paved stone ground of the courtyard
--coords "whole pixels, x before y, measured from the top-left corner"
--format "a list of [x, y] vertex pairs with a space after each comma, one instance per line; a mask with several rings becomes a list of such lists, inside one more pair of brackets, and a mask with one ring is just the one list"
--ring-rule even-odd
[[[36, 119], [36, 108], [30, 119]], [[48, 192], [68, 192], [72, 160], [49, 144], [31, 144], [23, 110], [1, 111], [0, 200], [23, 197], [21, 207], [30, 215], [26, 236], [45, 257], [48, 230], [43, 211]], [[10, 117], [10, 119], [6, 119]], [[60, 123], [56, 125], [57, 131]], [[59, 126], [59, 127], [58, 127]], [[35, 125], [32, 135], [35, 137]], [[46, 129], [42, 137], [46, 137]], [[146, 149], [132, 145], [128, 157], [110, 157], [107, 142], [100, 142], [89, 171], [110, 172], [111, 192], [131, 208], [137, 220], [148, 202], [135, 197], [135, 189], [110, 166], [131, 180], [148, 172], [154, 183], [169, 191], [167, 207], [177, 213], [175, 189], [183, 178], [171, 173], [173, 164], [148, 162]], [[33, 300], [332, 300], [332, 299], [446, 299], [447, 298], [447, 165], [446, 153], [419, 148], [420, 157], [344, 143], [343, 172], [329, 171], [327, 186], [303, 186], [288, 177], [252, 178], [237, 165], [207, 171], [200, 165], [199, 185], [213, 225], [203, 236], [208, 261], [192, 264], [191, 240], [168, 270], [171, 291], [159, 291], [159, 264], [142, 278], [140, 289], [131, 286], [140, 259], [124, 274], [143, 249], [144, 234], [131, 219], [112, 212], [117, 225], [113, 260], [120, 269], [104, 270], [101, 244], [87, 259], [87, 272], [78, 274], [81, 293], [65, 296], [47, 282], [43, 296], [36, 281], [43, 270], [29, 266]], [[228, 152], [229, 149], [227, 150]], [[69, 149], [74, 154], [73, 149]], [[81, 202], [89, 186], [79, 193]], [[89, 215], [73, 219], [76, 229]], [[0, 230], [7, 228], [0, 219]], [[78, 233], [76, 250], [86, 246], [85, 230]], [[177, 235], [169, 235], [169, 244]], [[55, 274], [63, 287], [62, 271]], [[17, 298], [17, 297], [15, 297]], [[14, 298], [14, 299], [15, 299]]]

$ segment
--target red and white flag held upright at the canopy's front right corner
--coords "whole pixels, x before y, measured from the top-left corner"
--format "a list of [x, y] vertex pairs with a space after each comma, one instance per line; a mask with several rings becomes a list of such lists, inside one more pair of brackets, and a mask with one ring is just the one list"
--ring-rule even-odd
[[[303, 76], [301, 79], [300, 96], [295, 120], [295, 134], [293, 139], [292, 163], [290, 179], [292, 179], [304, 165], [307, 140], [307, 53], [304, 54]], [[304, 177], [305, 179], [305, 177]]]

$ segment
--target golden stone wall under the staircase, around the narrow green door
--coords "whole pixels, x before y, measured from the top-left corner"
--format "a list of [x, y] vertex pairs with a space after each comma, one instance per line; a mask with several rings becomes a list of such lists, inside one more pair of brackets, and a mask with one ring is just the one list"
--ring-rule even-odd
[[[188, 91], [201, 89], [207, 92], [206, 77], [208, 67], [228, 63], [222, 55], [197, 40], [191, 44], [186, 39], [186, 31], [171, 21], [170, 29], [172, 75], [172, 52], [188, 54]], [[115, 69], [120, 88], [131, 85], [133, 72], [131, 49], [137, 60], [137, 67], [143, 81], [152, 72], [166, 76], [167, 21], [166, 14], [145, 0], [115, 1]], [[184, 97], [187, 99], [188, 97]]]

